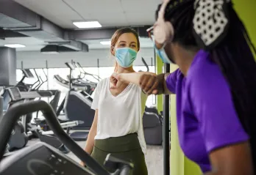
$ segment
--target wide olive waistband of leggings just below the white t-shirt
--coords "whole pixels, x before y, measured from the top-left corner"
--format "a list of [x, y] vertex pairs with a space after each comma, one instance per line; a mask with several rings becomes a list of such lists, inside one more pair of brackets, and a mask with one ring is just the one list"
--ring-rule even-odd
[[128, 152], [134, 149], [141, 149], [137, 133], [121, 137], [96, 139], [94, 141], [94, 146], [104, 152]]

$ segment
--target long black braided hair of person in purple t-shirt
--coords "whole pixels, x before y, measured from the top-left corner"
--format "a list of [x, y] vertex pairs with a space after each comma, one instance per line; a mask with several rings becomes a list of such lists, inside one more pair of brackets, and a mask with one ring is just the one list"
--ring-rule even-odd
[[[171, 0], [165, 13], [166, 21], [171, 21], [174, 26], [173, 42], [186, 49], [200, 49], [193, 37], [194, 1], [179, 2], [177, 5], [177, 1]], [[159, 10], [160, 6], [156, 18]], [[230, 86], [238, 118], [243, 129], [250, 136], [252, 157], [256, 165], [256, 64], [252, 54], [252, 51], [256, 53], [256, 50], [231, 2], [227, 10], [229, 29], [221, 42], [209, 51], [210, 59], [218, 64]]]

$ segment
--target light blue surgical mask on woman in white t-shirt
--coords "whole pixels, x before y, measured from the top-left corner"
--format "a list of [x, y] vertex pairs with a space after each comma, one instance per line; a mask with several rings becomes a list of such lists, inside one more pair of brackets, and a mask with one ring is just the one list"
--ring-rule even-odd
[[132, 48], [115, 48], [115, 59], [121, 67], [131, 67], [137, 56]]

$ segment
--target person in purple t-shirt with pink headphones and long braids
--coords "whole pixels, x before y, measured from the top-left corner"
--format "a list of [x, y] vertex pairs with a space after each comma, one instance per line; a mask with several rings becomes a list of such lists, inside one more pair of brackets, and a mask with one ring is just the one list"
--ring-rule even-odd
[[[207, 175], [255, 174], [256, 64], [231, 1], [164, 0], [149, 29], [171, 74], [116, 74], [146, 94], [177, 94], [179, 144]], [[256, 53], [256, 51], [255, 51]]]

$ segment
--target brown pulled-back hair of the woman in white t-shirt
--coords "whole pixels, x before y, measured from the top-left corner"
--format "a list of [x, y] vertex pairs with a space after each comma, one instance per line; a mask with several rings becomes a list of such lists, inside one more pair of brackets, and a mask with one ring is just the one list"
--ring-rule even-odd
[[[112, 38], [111, 38], [111, 48], [110, 50], [113, 49], [113, 47], [115, 47], [115, 43], [118, 41], [118, 38], [122, 35], [122, 34], [126, 34], [126, 33], [132, 33], [135, 35], [136, 39], [137, 39], [137, 45], [138, 45], [138, 51], [140, 50], [140, 40], [138, 38], [138, 33], [137, 31], [135, 31], [134, 29], [132, 28], [129, 28], [129, 27], [125, 27], [125, 28], [121, 28], [121, 29], [118, 29], [117, 31], [115, 31], [115, 34], [113, 34]], [[118, 64], [117, 62], [115, 62], [115, 72], [117, 72], [117, 69], [118, 69]]]

